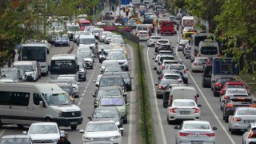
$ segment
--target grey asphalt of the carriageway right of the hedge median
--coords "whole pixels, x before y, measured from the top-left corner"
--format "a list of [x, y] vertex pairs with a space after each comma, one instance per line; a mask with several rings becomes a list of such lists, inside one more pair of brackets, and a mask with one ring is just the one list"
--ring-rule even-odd
[[[160, 34], [152, 34], [160, 35]], [[222, 120], [222, 110], [220, 110], [219, 98], [214, 97], [210, 88], [202, 87], [202, 73], [192, 73], [191, 72], [191, 62], [190, 59], [186, 59], [182, 52], [177, 52], [176, 46], [179, 40], [181, 33], [171, 35], [162, 35], [161, 38], [169, 39], [172, 46], [174, 46], [174, 53], [176, 54], [175, 59], [183, 61], [186, 68], [189, 69], [189, 86], [194, 86], [200, 95], [198, 98], [198, 104], [202, 104], [201, 108], [201, 119], [209, 121], [212, 126], [218, 128], [215, 131], [215, 142], [220, 144], [235, 144], [242, 143], [242, 134], [231, 135], [228, 131], [228, 123], [225, 123]], [[143, 50], [143, 56], [146, 67], [146, 81], [148, 83], [148, 94], [150, 99], [150, 114], [152, 117], [153, 130], [154, 130], [154, 143], [162, 144], [173, 144], [175, 143], [175, 133], [177, 130], [174, 130], [174, 126], [177, 125], [168, 125], [166, 117], [167, 112], [166, 108], [162, 106], [162, 99], [157, 99], [155, 83], [158, 82], [156, 71], [154, 68], [154, 47], [147, 47], [146, 42], [140, 42], [140, 45], [145, 46]]]

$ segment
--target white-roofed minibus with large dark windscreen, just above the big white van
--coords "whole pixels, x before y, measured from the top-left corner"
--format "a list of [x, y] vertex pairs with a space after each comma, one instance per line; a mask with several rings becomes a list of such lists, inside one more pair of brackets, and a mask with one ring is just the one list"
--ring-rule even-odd
[[57, 78], [61, 74], [74, 74], [78, 79], [78, 61], [75, 54], [55, 54], [50, 60], [50, 77]]

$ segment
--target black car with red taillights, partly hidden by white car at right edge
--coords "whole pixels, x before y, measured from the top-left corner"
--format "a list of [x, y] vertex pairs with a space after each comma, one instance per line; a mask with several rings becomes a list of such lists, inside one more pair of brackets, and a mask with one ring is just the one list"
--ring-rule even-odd
[[238, 97], [238, 96], [230, 96], [225, 100], [224, 107], [223, 107], [223, 120], [225, 122], [229, 121], [229, 116], [234, 114], [234, 110], [237, 107], [249, 107], [249, 106], [255, 106], [254, 100], [250, 97]]

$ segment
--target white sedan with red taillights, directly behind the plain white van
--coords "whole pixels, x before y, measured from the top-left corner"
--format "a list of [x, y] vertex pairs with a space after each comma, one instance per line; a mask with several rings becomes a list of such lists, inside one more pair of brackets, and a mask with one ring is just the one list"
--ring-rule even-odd
[[167, 107], [167, 122], [171, 124], [178, 120], [200, 120], [201, 105], [194, 102], [193, 99], [174, 99]]

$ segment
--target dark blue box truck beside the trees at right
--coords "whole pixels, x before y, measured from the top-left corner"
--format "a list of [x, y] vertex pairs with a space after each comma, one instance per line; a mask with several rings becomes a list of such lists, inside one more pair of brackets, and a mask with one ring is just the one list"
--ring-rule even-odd
[[214, 58], [211, 73], [211, 82], [219, 75], [239, 75], [238, 62], [232, 58]]

